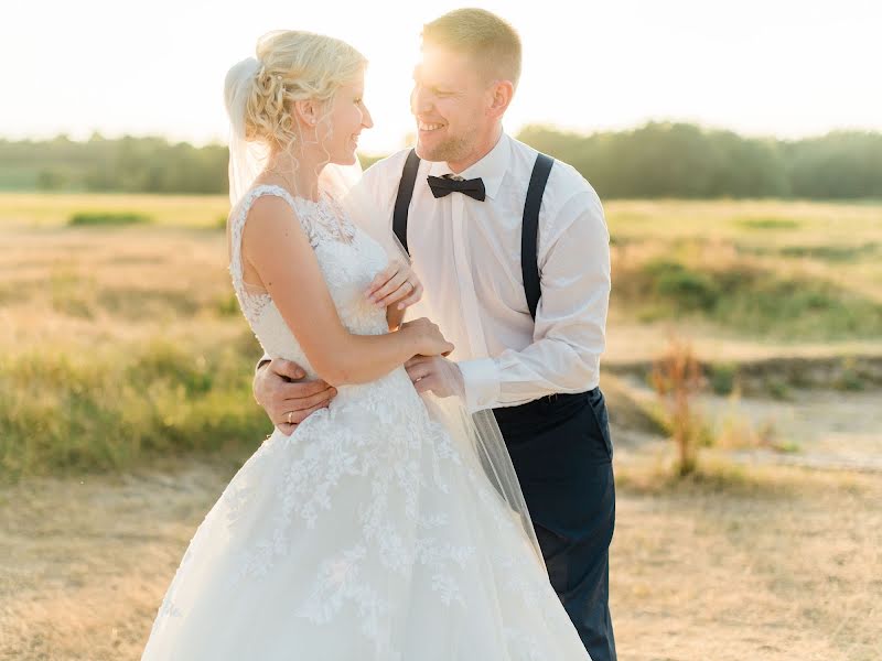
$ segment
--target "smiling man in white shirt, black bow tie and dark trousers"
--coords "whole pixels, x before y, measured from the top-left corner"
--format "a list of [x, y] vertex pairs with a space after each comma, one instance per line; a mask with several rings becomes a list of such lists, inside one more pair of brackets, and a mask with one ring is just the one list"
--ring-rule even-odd
[[[551, 583], [591, 659], [611, 661], [615, 488], [598, 388], [609, 235], [574, 169], [503, 131], [519, 74], [520, 40], [498, 17], [462, 9], [424, 25], [417, 148], [375, 164], [363, 184], [413, 260], [426, 316], [456, 347], [455, 362], [411, 359], [411, 380], [493, 410]], [[276, 359], [255, 377], [256, 399], [286, 433], [334, 394], [290, 381], [302, 376]]]

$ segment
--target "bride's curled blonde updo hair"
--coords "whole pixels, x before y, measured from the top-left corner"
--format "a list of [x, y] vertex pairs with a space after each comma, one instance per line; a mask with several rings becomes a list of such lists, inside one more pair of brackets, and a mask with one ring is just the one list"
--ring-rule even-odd
[[318, 101], [324, 120], [337, 89], [356, 80], [367, 65], [346, 42], [299, 30], [260, 37], [257, 59], [260, 68], [245, 106], [245, 139], [271, 150], [287, 149], [300, 137], [294, 101]]

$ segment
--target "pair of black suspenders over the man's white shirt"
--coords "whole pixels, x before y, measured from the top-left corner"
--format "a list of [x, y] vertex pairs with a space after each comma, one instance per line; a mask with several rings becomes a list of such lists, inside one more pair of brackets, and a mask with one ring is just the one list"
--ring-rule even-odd
[[[536, 156], [533, 166], [530, 183], [527, 186], [527, 199], [524, 203], [524, 221], [520, 228], [520, 272], [524, 278], [524, 293], [527, 295], [527, 306], [530, 316], [536, 318], [536, 308], [539, 305], [539, 297], [542, 295], [541, 282], [539, 280], [539, 264], [537, 263], [538, 235], [539, 235], [539, 209], [542, 206], [542, 194], [548, 183], [548, 175], [555, 159], [540, 153]], [[417, 171], [420, 166], [420, 158], [416, 150], [410, 150], [401, 173], [401, 181], [398, 184], [398, 196], [395, 198], [395, 212], [392, 215], [392, 230], [401, 241], [405, 250], [407, 247], [407, 217], [410, 199], [413, 197], [413, 185], [417, 181]]]

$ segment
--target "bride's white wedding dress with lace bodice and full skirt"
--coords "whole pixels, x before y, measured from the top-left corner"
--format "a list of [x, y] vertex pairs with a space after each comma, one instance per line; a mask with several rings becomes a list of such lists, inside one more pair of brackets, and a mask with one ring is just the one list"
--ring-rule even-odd
[[[330, 199], [258, 186], [232, 216], [230, 273], [266, 351], [314, 373], [272, 300], [243, 284], [260, 195], [294, 208], [348, 329], [387, 333], [364, 296], [387, 263], [379, 245]], [[196, 530], [142, 658], [589, 659], [524, 527], [430, 411], [398, 368], [341, 387], [292, 435], [276, 430]]]

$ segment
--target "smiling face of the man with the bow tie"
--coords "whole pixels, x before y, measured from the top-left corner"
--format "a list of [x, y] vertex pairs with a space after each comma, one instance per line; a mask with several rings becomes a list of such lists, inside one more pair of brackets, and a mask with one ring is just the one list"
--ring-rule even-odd
[[447, 161], [459, 172], [486, 153], [499, 119], [493, 111], [494, 83], [469, 55], [424, 44], [410, 94], [417, 154]]

